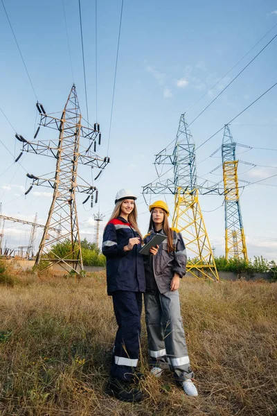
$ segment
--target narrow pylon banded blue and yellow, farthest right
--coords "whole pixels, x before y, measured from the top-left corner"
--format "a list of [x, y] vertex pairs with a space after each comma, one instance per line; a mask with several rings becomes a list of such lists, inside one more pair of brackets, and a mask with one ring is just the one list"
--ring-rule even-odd
[[240, 211], [240, 193], [238, 189], [238, 159], [235, 157], [235, 141], [229, 125], [225, 125], [222, 140], [222, 168], [225, 194], [225, 257], [244, 258], [248, 261], [242, 214]]

